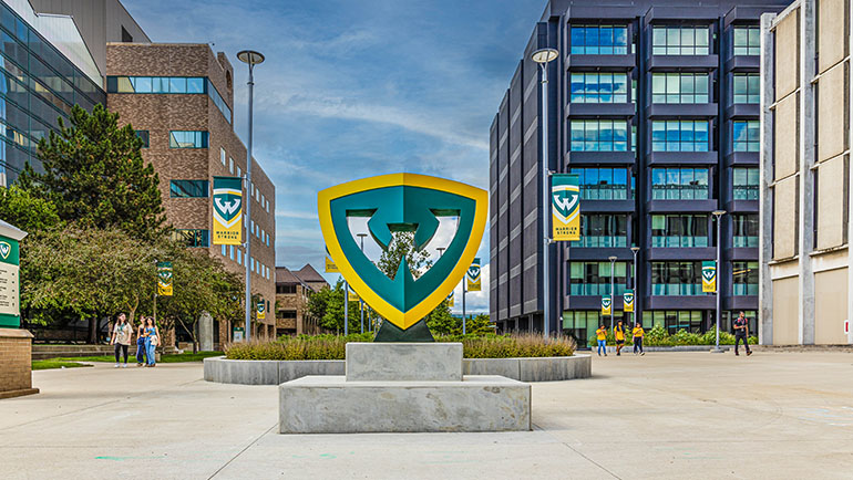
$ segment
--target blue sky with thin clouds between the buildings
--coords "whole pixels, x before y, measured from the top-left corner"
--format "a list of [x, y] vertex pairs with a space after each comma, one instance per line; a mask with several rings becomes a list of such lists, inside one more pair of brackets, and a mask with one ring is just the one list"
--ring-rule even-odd
[[[122, 3], [154, 42], [210, 43], [228, 54], [244, 143], [247, 70], [236, 52], [265, 54], [255, 69], [253, 154], [276, 186], [276, 263], [321, 272], [323, 188], [404, 171], [489, 189], [489, 127], [546, 2]], [[429, 246], [433, 257], [452, 232], [442, 223]], [[378, 258], [378, 246], [366, 242], [368, 257]], [[489, 311], [489, 227], [479, 257], [483, 291], [466, 295], [469, 312]]]

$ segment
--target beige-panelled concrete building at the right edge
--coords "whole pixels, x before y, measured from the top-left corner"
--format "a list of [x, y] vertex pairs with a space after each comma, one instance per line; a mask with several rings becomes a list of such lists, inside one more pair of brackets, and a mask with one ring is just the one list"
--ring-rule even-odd
[[850, 25], [846, 0], [798, 0], [761, 18], [765, 344], [853, 343]]

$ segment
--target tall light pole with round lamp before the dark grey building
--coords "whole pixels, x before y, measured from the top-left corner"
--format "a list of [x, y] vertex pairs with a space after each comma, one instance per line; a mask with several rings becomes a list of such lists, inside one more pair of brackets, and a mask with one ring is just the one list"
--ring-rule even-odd
[[[531, 60], [539, 64], [542, 72], [542, 332], [545, 337], [551, 336], [551, 270], [548, 269], [548, 250], [551, 246], [551, 232], [548, 231], [551, 217], [551, 169], [548, 165], [548, 63], [559, 56], [555, 49], [539, 49], [531, 54]], [[465, 294], [462, 293], [462, 304], [465, 304]], [[464, 315], [463, 315], [464, 317]]]

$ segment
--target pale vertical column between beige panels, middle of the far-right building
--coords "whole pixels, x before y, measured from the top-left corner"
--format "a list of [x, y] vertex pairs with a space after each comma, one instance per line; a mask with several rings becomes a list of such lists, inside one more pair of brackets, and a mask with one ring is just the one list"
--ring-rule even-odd
[[816, 39], [816, 1], [800, 3], [800, 239], [798, 248], [800, 271], [799, 340], [814, 344], [814, 272], [810, 253], [814, 247], [814, 165], [815, 108], [814, 84]]

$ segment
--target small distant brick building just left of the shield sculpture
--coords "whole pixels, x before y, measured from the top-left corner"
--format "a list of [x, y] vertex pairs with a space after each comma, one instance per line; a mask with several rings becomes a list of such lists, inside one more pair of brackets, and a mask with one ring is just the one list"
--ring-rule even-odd
[[276, 336], [320, 333], [317, 319], [308, 315], [308, 299], [329, 286], [310, 264], [297, 271], [276, 268]]

